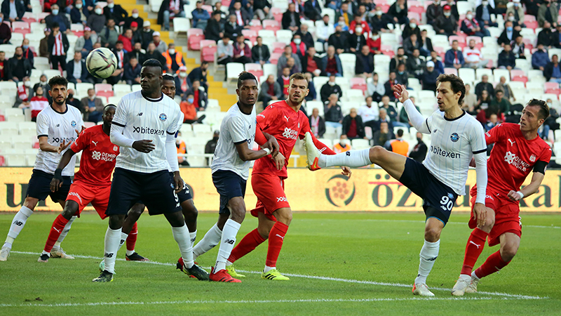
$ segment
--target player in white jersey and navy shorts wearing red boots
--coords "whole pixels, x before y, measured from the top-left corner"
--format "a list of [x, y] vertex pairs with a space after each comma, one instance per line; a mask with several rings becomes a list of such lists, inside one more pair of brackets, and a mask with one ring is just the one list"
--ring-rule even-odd
[[[250, 161], [276, 154], [278, 143], [257, 126], [255, 102], [257, 79], [249, 72], [238, 77], [238, 103], [232, 105], [220, 124], [220, 138], [212, 160], [212, 182], [220, 195], [217, 223], [208, 230], [194, 249], [203, 254], [220, 242], [216, 265], [210, 274], [211, 281], [241, 282], [226, 270], [226, 261], [236, 244], [236, 235], [245, 218], [245, 184], [250, 175]], [[253, 141], [262, 145], [261, 150], [251, 150]], [[197, 250], [198, 248], [198, 250]], [[202, 250], [201, 250], [202, 249]]]

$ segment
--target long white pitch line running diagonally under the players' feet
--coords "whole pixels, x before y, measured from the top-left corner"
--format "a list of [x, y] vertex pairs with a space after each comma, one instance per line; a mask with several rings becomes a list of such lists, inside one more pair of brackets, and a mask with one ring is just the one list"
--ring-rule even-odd
[[[39, 253], [36, 252], [29, 252], [29, 251], [12, 251], [13, 254], [29, 254], [29, 255], [40, 255]], [[75, 258], [83, 258], [83, 259], [96, 259], [96, 260], [102, 260], [103, 258], [100, 257], [94, 257], [94, 256], [81, 256], [81, 255], [71, 255], [74, 256]], [[125, 259], [121, 259], [118, 258], [116, 259], [117, 261], [125, 261]], [[134, 262], [134, 263], [145, 263], [145, 264], [151, 264], [151, 265], [168, 265], [168, 266], [173, 266], [175, 267], [175, 263], [161, 263], [158, 261], [130, 261], [130, 262]], [[210, 269], [208, 267], [203, 267], [203, 268], [207, 268]], [[252, 274], [261, 274], [260, 271], [248, 271], [248, 270], [238, 270], [239, 272], [244, 272], [244, 273], [252, 273]], [[364, 280], [358, 280], [358, 279], [341, 279], [338, 277], [320, 277], [317, 275], [297, 275], [297, 274], [292, 274], [292, 273], [283, 273], [283, 275], [287, 275], [288, 277], [302, 277], [302, 278], [306, 278], [306, 279], [321, 279], [321, 280], [325, 280], [325, 281], [337, 281], [337, 282], [346, 282], [346, 283], [357, 283], [357, 284], [372, 284], [372, 285], [379, 285], [379, 286], [383, 286], [383, 287], [411, 287], [411, 284], [403, 284], [403, 283], [389, 283], [389, 282], [376, 282], [376, 281], [364, 281]], [[451, 289], [445, 289], [442, 287], [431, 287], [431, 289], [433, 290], [437, 290], [437, 291], [451, 291]], [[485, 294], [485, 295], [492, 295], [492, 296], [503, 296], [505, 298], [518, 298], [518, 299], [532, 299], [532, 300], [541, 300], [541, 299], [546, 299], [548, 297], [542, 297], [542, 296], [529, 296], [529, 295], [522, 295], [522, 294], [508, 294], [508, 293], [500, 293], [500, 292], [486, 292], [486, 291], [478, 291], [479, 294]]]

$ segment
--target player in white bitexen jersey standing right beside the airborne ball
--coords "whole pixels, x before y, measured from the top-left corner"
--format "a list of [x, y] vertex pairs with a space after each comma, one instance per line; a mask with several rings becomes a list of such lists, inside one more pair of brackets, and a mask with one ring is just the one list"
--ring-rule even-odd
[[[105, 234], [105, 270], [93, 282], [113, 280], [116, 252], [127, 211], [137, 202], [150, 215], [164, 214], [172, 226], [185, 269], [197, 279], [208, 280], [208, 272], [193, 262], [189, 230], [177, 197], [184, 183], [177, 162], [175, 137], [182, 124], [180, 106], [162, 93], [162, 65], [149, 59], [140, 71], [142, 90], [121, 98], [111, 124], [111, 143], [121, 146], [111, 183]], [[170, 177], [168, 169], [173, 171]]]

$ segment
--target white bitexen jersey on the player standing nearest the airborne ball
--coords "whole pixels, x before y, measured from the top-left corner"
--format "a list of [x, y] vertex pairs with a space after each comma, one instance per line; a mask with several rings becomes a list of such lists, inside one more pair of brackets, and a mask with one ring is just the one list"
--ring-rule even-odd
[[139, 152], [133, 147], [121, 146], [116, 168], [141, 173], [168, 170], [165, 139], [168, 134], [179, 131], [183, 120], [180, 106], [170, 97], [150, 99], [142, 91], [128, 93], [121, 98], [112, 124], [123, 128], [123, 136], [132, 140], [152, 140], [156, 149], [149, 153]]

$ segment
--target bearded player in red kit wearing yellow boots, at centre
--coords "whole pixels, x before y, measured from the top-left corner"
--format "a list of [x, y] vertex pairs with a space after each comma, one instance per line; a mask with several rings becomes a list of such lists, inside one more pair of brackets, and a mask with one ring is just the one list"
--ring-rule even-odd
[[[273, 103], [261, 114], [257, 114], [259, 128], [277, 139], [279, 154], [272, 159], [270, 157], [257, 159], [253, 166], [251, 186], [257, 195], [257, 206], [251, 214], [259, 219], [259, 224], [255, 230], [245, 235], [231, 252], [227, 270], [233, 277], [243, 276], [236, 273], [231, 263], [269, 239], [265, 269], [261, 277], [274, 280], [288, 279], [276, 270], [276, 261], [292, 220], [292, 210], [284, 192], [284, 180], [288, 178], [286, 166], [296, 140], [304, 139], [306, 132], [311, 131], [308, 117], [300, 111], [302, 101], [308, 93], [306, 76], [302, 73], [292, 74], [288, 87], [288, 100]], [[315, 137], [313, 143], [323, 153], [335, 154]], [[349, 168], [342, 167], [342, 169], [345, 176], [351, 176]]]

